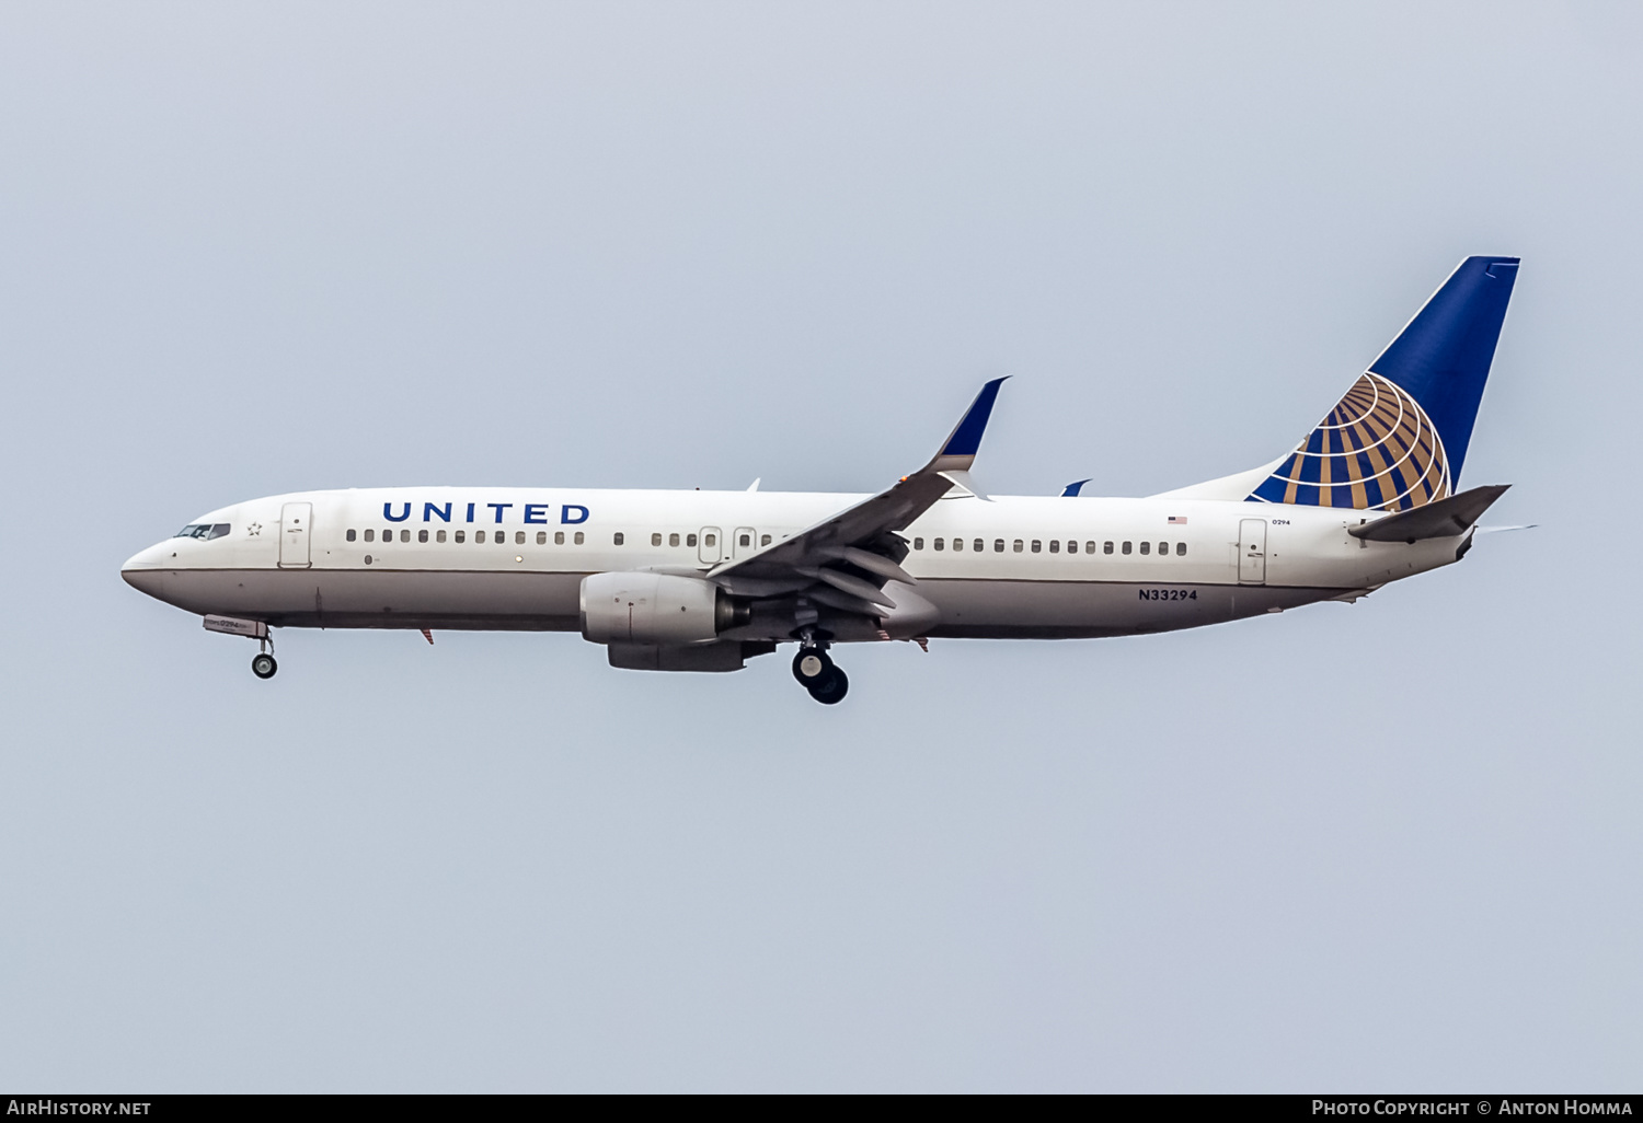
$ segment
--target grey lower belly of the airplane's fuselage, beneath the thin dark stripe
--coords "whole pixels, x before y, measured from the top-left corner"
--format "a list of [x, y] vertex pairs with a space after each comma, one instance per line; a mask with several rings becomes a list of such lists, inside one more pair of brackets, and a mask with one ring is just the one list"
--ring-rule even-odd
[[[585, 573], [462, 570], [151, 570], [141, 591], [273, 627], [575, 632]], [[1099, 639], [1262, 616], [1342, 589], [1134, 581], [923, 580], [937, 639]], [[785, 640], [787, 632], [762, 639]]]

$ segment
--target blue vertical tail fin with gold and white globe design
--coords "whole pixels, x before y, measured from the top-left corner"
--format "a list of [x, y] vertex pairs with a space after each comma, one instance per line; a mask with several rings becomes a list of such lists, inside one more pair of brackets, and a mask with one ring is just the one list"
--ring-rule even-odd
[[1249, 499], [1408, 511], [1454, 491], [1516, 258], [1467, 258]]

